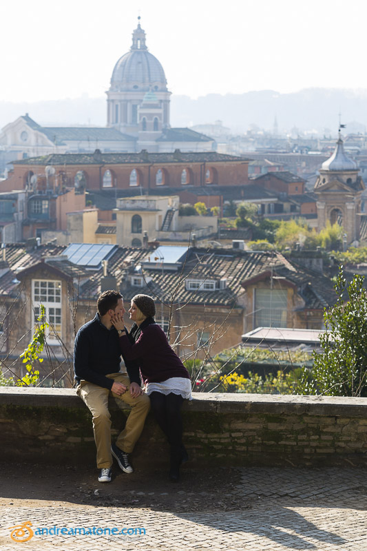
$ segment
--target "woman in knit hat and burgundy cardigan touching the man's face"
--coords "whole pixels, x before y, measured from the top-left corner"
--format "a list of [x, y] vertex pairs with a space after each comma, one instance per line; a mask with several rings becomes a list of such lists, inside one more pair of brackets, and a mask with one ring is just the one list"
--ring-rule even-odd
[[169, 477], [178, 481], [180, 464], [189, 459], [182, 444], [181, 406], [185, 398], [192, 399], [190, 376], [169, 346], [165, 332], [154, 321], [154, 300], [149, 295], [135, 295], [129, 314], [134, 322], [129, 335], [125, 334], [120, 317], [112, 323], [120, 335], [126, 360], [138, 360], [151, 409], [171, 448]]

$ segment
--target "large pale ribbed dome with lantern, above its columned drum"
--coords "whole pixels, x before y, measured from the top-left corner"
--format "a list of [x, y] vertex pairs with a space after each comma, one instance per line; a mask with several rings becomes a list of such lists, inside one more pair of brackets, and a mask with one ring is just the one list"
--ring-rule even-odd
[[114, 67], [110, 90], [167, 92], [165, 72], [158, 59], [148, 52], [140, 23], [132, 35], [132, 48]]

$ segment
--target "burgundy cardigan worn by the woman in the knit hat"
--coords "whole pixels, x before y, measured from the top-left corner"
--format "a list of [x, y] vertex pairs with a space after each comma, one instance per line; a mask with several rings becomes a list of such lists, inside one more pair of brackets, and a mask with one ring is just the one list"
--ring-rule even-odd
[[127, 360], [137, 360], [144, 383], [161, 383], [171, 377], [190, 378], [153, 318], [147, 318], [140, 326], [134, 324], [129, 335], [121, 335], [120, 347]]

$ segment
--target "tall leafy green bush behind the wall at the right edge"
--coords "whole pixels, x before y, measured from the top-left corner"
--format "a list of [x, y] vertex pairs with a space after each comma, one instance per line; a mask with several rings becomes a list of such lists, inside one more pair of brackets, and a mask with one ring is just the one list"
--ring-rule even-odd
[[314, 352], [311, 379], [309, 371], [304, 371], [297, 393], [367, 396], [367, 295], [363, 284], [361, 275], [347, 284], [340, 267], [335, 283], [337, 303], [324, 312], [322, 352]]

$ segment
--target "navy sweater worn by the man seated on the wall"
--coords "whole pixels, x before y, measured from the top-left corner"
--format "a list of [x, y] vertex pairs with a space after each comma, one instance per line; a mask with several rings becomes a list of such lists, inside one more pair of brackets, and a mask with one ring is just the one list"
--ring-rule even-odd
[[[125, 358], [124, 358], [125, 361]], [[74, 373], [76, 382], [82, 379], [111, 390], [114, 381], [106, 377], [120, 371], [121, 349], [114, 327], [107, 329], [96, 313], [76, 334], [74, 341]], [[125, 361], [130, 382], [140, 385], [138, 365]]]

